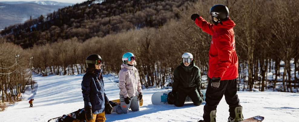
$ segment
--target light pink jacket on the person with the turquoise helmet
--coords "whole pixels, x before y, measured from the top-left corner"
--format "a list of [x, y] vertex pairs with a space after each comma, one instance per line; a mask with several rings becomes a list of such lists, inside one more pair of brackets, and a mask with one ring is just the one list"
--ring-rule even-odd
[[142, 93], [138, 70], [124, 63], [120, 67], [118, 72], [120, 95], [127, 98], [138, 95], [138, 92]]

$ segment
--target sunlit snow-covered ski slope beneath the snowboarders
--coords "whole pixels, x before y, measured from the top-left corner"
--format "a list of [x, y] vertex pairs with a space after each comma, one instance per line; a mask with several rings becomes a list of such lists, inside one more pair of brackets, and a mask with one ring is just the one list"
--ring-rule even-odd
[[[37, 84], [31, 91], [29, 88], [22, 96], [23, 101], [17, 102], [0, 112], [0, 122], [46, 122], [50, 118], [69, 114], [84, 108], [81, 93], [81, 81], [84, 74], [41, 77], [33, 75]], [[119, 98], [117, 75], [104, 75], [105, 91], [110, 100]], [[203, 106], [185, 103], [183, 107], [174, 105], [153, 105], [151, 95], [157, 91], [170, 89], [143, 89], [143, 106], [140, 111], [129, 111], [128, 114], [106, 114], [106, 122], [196, 122], [202, 119]], [[248, 92], [238, 91], [243, 115], [245, 118], [260, 115], [263, 122], [298, 122], [299, 94], [284, 92]], [[33, 108], [28, 101], [34, 98]], [[228, 105], [223, 98], [217, 107], [217, 121], [226, 122]]]

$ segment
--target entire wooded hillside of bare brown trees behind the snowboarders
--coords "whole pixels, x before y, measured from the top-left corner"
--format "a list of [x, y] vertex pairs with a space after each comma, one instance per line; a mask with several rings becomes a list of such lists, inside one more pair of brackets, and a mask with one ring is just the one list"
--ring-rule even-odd
[[[298, 93], [299, 13], [290, 12], [297, 11], [294, 7], [299, 5], [297, 0], [152, 0], [90, 3], [92, 2], [87, 1], [78, 4], [78, 9], [86, 10], [77, 13], [66, 12], [74, 10], [74, 5], [52, 13], [52, 19], [37, 18], [28, 21], [27, 25], [24, 23], [12, 27], [28, 27], [28, 32], [22, 29], [14, 32], [14, 29], [2, 31], [1, 66], [14, 66], [16, 53], [20, 54], [17, 62], [22, 67], [28, 66], [29, 57], [33, 57], [31, 62], [36, 73], [44, 76], [73, 75], [85, 73], [86, 57], [96, 53], [103, 58], [104, 73], [117, 74], [122, 64], [122, 55], [132, 52], [136, 57], [136, 67], [142, 85], [147, 88], [165, 88], [171, 86], [173, 70], [179, 65], [182, 54], [189, 52], [193, 54], [195, 65], [201, 69], [201, 75], [206, 77], [212, 36], [195, 24], [189, 30], [185, 30], [194, 23], [190, 19], [193, 13], [210, 21], [209, 10], [216, 3], [227, 5], [229, 16], [236, 24], [234, 32], [239, 61], [239, 90], [271, 89]], [[117, 3], [120, 6], [115, 6]], [[139, 5], [142, 6], [140, 10], [137, 7]], [[144, 7], [147, 5], [148, 8]], [[98, 8], [99, 12], [93, 12], [97, 9], [91, 9], [92, 6], [101, 9]], [[107, 7], [107, 11], [104, 12], [106, 6], [117, 9], [114, 13], [114, 9]], [[123, 6], [127, 6], [128, 9]], [[65, 10], [65, 13], [62, 10]], [[100, 11], [105, 14], [98, 15]], [[95, 13], [98, 16], [94, 16]], [[74, 19], [79, 16], [84, 16], [84, 19]], [[45, 20], [54, 21], [49, 23]], [[33, 21], [38, 24], [29, 24]], [[1, 69], [0, 73], [14, 70], [14, 67]], [[22, 74], [26, 74], [30, 70], [22, 71]], [[273, 76], [272, 79], [268, 79], [268, 75]], [[5, 84], [1, 86], [1, 90], [11, 96], [15, 95], [15, 83], [11, 81], [15, 81], [16, 78], [22, 79], [21, 87], [30, 85], [30, 82], [27, 82], [28, 75], [16, 75], [13, 72], [0, 77], [2, 84]], [[203, 79], [202, 88], [205, 89], [206, 85], [207, 81]], [[2, 95], [1, 99], [8, 101], [5, 95]]]

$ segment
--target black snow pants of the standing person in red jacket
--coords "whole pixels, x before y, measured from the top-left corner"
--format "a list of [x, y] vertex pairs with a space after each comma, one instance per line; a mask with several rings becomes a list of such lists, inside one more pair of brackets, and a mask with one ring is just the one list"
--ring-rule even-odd
[[217, 89], [211, 87], [212, 79], [209, 78], [208, 88], [205, 92], [205, 106], [203, 108], [203, 119], [205, 122], [210, 122], [210, 112], [216, 110], [217, 105], [221, 101], [223, 95], [225, 101], [229, 105], [229, 116], [235, 118], [235, 108], [240, 105], [237, 95], [237, 79], [221, 80], [220, 86]]

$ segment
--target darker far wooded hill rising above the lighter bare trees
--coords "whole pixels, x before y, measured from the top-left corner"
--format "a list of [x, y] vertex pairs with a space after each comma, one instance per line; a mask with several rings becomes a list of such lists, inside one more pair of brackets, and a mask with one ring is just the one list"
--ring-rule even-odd
[[101, 4], [86, 1], [11, 25], [1, 35], [23, 48], [72, 37], [85, 41], [131, 29], [161, 27], [167, 20], [179, 18], [179, 11], [191, 4], [189, 0], [108, 0]]

